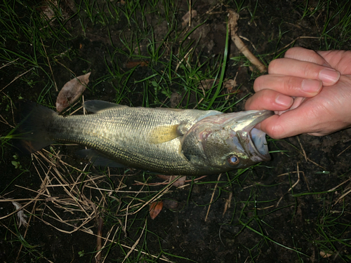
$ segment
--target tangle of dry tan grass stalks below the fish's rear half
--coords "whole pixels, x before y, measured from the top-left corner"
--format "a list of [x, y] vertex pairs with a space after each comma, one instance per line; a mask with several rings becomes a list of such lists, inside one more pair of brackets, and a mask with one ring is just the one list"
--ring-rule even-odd
[[[102, 245], [100, 245], [100, 248], [99, 245], [97, 246], [99, 249], [97, 250], [97, 255], [95, 255], [96, 262], [105, 262], [105, 259], [104, 257], [101, 257], [101, 254], [104, 248], [110, 243], [119, 243], [119, 245], [129, 250], [124, 261], [133, 251], [149, 255], [155, 259], [159, 258], [156, 255], [150, 255], [147, 252], [138, 250], [137, 248], [147, 224], [146, 219], [143, 231], [135, 241], [134, 245], [130, 246], [120, 243], [115, 236], [117, 236], [117, 232], [119, 231], [123, 231], [124, 236], [126, 236], [128, 217], [135, 215], [150, 203], [157, 201], [161, 196], [167, 194], [177, 178], [172, 182], [168, 182], [166, 187], [161, 191], [144, 190], [146, 184], [141, 185], [138, 191], [128, 191], [128, 189], [126, 189], [126, 184], [124, 184], [123, 181], [124, 177], [131, 175], [111, 175], [110, 170], [108, 170], [107, 175], [92, 175], [91, 173], [86, 173], [88, 165], [80, 170], [79, 168], [70, 166], [68, 163], [62, 161], [62, 155], [60, 155], [60, 152], [49, 152], [45, 149], [32, 154], [32, 159], [33, 166], [41, 180], [39, 189], [22, 187], [20, 185], [15, 185], [15, 187], [27, 191], [28, 194], [34, 192], [36, 193], [36, 196], [34, 198], [12, 199], [6, 198], [6, 196], [11, 196], [11, 192], [8, 192], [0, 199], [0, 202], [2, 203], [14, 201], [20, 202], [22, 205], [22, 208], [20, 209], [24, 210], [25, 213], [29, 215], [27, 220], [28, 224], [23, 238], [26, 237], [30, 223], [33, 220], [40, 220], [41, 222], [44, 222], [44, 224], [47, 224], [65, 234], [72, 234], [76, 231], [81, 231], [97, 237], [98, 243], [100, 242]], [[74, 170], [75, 173], [72, 173], [72, 170]], [[103, 187], [102, 185], [107, 177], [118, 177], [118, 186], [114, 189]], [[150, 196], [150, 193], [155, 194], [147, 200], [145, 200], [144, 197], [139, 197], [140, 194]], [[121, 198], [130, 199], [126, 205], [122, 204], [121, 199], [116, 197], [120, 194], [123, 196]], [[105, 236], [101, 236], [102, 220], [106, 213], [110, 213], [108, 207], [109, 200], [111, 199], [119, 201], [119, 206], [114, 211], [114, 216], [117, 218], [117, 224], [110, 227]], [[5, 220], [15, 213], [18, 213], [18, 210], [0, 217], [0, 220]], [[67, 214], [69, 214], [69, 219], [63, 218]], [[98, 228], [96, 228], [97, 224]], [[3, 227], [6, 226], [3, 224]], [[18, 224], [18, 227], [20, 227], [20, 224]], [[95, 229], [98, 229], [98, 231], [100, 229], [99, 233], [95, 233]], [[11, 231], [11, 229], [8, 229], [8, 231]], [[18, 251], [18, 257], [20, 256], [21, 250], [22, 246]], [[159, 259], [163, 262], [171, 262], [166, 258]]]

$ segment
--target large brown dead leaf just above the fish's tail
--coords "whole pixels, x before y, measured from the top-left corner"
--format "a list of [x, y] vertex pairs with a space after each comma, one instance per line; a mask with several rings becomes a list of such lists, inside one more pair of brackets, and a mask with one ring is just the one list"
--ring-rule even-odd
[[56, 100], [56, 109], [58, 112], [62, 112], [63, 109], [67, 108], [69, 105], [73, 104], [86, 90], [86, 86], [89, 83], [89, 76], [91, 72], [77, 76], [77, 78], [71, 79], [58, 93], [58, 98]]

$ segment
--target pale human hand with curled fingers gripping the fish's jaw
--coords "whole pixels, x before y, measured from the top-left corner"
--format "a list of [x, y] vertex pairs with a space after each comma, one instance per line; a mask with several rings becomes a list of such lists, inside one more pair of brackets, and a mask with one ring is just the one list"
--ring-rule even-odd
[[269, 109], [257, 128], [274, 139], [351, 127], [351, 51], [291, 48], [253, 84], [245, 109]]

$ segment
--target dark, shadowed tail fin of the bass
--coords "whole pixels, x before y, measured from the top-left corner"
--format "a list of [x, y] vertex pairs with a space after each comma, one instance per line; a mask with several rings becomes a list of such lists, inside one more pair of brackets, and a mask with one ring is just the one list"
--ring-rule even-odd
[[13, 146], [22, 154], [32, 154], [53, 143], [49, 127], [56, 112], [34, 102], [22, 102], [18, 105], [18, 126], [13, 131]]

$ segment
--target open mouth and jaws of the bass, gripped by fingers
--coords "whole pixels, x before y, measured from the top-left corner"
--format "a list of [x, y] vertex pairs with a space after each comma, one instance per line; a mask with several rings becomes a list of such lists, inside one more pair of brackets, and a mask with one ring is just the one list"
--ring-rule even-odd
[[232, 130], [239, 135], [241, 147], [254, 162], [270, 161], [265, 133], [254, 127], [272, 115], [274, 112], [271, 111], [247, 111], [240, 112], [235, 120], [230, 121]]

